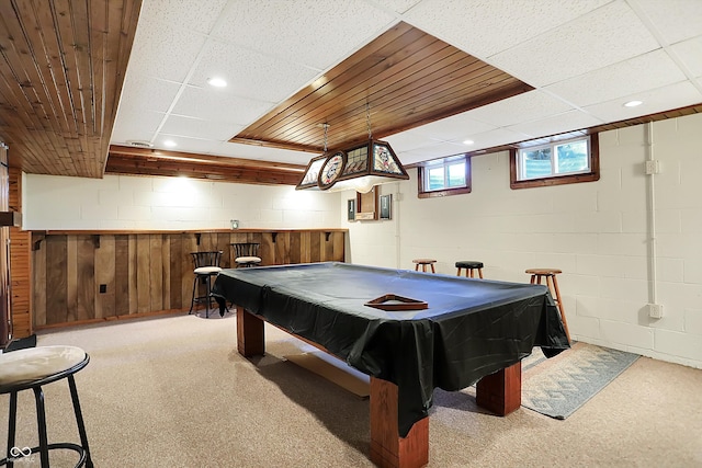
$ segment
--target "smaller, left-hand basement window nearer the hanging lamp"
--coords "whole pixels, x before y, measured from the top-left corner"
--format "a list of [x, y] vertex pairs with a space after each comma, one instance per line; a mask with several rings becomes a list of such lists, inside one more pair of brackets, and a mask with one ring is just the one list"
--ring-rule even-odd
[[471, 159], [465, 155], [429, 161], [418, 175], [419, 198], [471, 193]]

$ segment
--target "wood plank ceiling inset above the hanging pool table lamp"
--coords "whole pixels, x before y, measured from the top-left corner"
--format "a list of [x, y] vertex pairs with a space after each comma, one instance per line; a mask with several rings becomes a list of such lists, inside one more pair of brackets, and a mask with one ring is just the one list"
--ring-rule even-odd
[[320, 152], [383, 138], [533, 88], [398, 23], [230, 139]]

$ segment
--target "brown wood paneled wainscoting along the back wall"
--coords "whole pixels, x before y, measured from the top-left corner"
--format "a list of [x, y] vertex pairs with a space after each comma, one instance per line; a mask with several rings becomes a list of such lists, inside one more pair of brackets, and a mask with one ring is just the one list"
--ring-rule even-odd
[[347, 229], [207, 231], [33, 231], [36, 329], [186, 311], [193, 287], [190, 252], [260, 242], [262, 265], [344, 261]]

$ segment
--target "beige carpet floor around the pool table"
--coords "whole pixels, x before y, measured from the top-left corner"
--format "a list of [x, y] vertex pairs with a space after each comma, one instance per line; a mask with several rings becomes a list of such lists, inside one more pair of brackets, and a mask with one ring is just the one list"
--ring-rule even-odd
[[[48, 344], [90, 354], [76, 381], [95, 467], [372, 466], [367, 400], [286, 362], [309, 346], [272, 327], [268, 354], [251, 361], [236, 352], [231, 315], [41, 333]], [[45, 387], [49, 442], [77, 441], [67, 387]], [[642, 357], [565, 421], [524, 408], [498, 418], [471, 390], [437, 390], [430, 466], [700, 467], [700, 389], [702, 370]], [[0, 441], [8, 401], [0, 397]], [[18, 445], [36, 445], [31, 392], [19, 413]], [[71, 460], [56, 453], [52, 468]]]

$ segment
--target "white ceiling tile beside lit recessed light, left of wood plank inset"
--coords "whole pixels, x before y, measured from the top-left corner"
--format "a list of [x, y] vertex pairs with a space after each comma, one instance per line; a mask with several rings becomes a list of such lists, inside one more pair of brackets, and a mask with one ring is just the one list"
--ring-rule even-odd
[[317, 75], [316, 70], [308, 67], [220, 41], [208, 41], [200, 66], [189, 82], [204, 87], [208, 78], [217, 76], [227, 81], [227, 92], [278, 102], [303, 88]]

